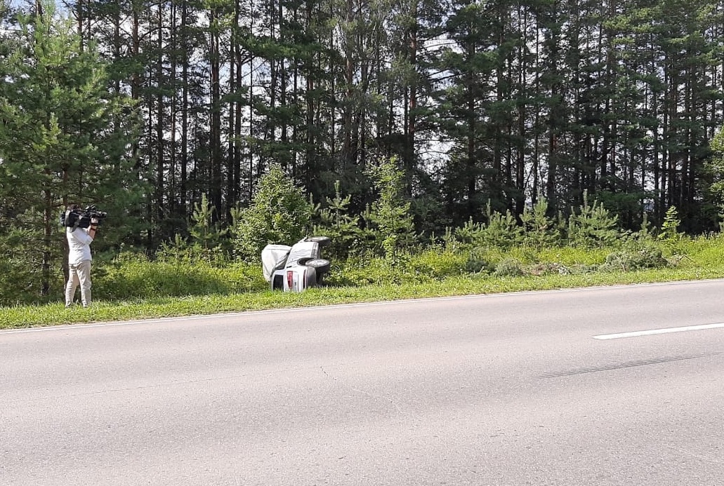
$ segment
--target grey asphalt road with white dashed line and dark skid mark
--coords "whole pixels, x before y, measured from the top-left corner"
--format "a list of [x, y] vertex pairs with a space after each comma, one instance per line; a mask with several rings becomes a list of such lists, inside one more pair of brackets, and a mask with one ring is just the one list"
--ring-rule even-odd
[[719, 280], [4, 331], [0, 485], [718, 486], [722, 323]]

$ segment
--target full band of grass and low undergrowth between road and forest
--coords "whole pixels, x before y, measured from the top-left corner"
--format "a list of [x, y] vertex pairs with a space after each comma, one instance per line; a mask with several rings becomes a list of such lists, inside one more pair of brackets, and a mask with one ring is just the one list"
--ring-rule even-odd
[[719, 235], [630, 239], [595, 248], [432, 244], [394, 258], [333, 260], [323, 286], [298, 294], [270, 291], [259, 265], [192, 255], [171, 252], [151, 261], [123, 252], [96, 263], [90, 308], [67, 310], [60, 297], [3, 307], [0, 328], [724, 278]]

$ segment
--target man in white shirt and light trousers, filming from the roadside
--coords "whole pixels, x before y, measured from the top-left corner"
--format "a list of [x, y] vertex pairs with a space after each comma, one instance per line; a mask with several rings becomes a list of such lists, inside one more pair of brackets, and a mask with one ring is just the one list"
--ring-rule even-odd
[[[68, 206], [70, 211], [80, 210], [80, 206]], [[68, 282], [65, 286], [65, 307], [70, 307], [75, 298], [75, 289], [80, 285], [80, 302], [83, 307], [90, 305], [90, 244], [96, 238], [98, 219], [92, 218], [88, 228], [67, 226], [65, 237], [68, 240]]]

